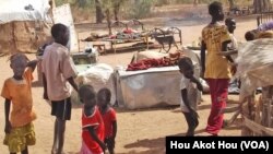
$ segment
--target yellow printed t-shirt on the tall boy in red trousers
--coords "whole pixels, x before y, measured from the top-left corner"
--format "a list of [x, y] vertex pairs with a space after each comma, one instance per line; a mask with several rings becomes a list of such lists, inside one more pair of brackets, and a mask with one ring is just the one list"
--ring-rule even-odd
[[206, 45], [205, 79], [230, 79], [228, 60], [221, 56], [222, 43], [230, 40], [225, 25], [210, 24], [202, 31], [202, 40]]

